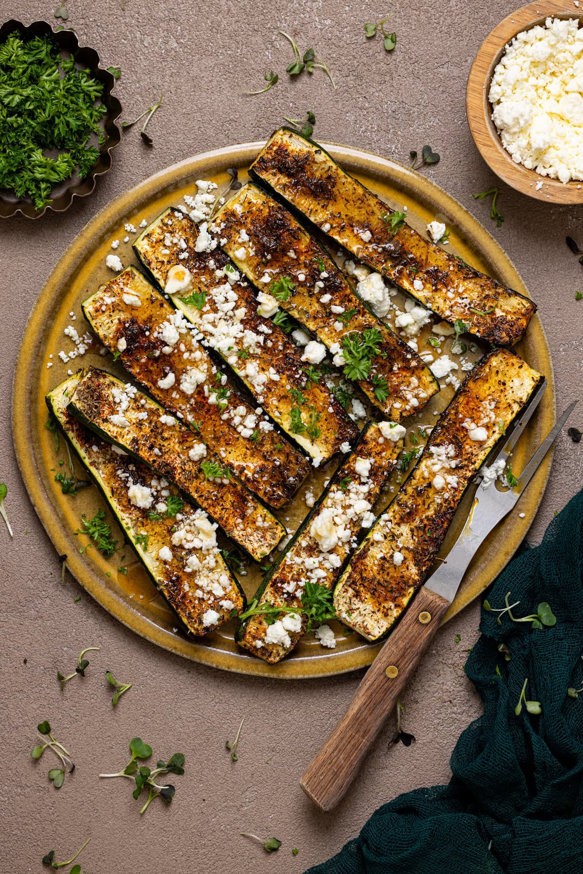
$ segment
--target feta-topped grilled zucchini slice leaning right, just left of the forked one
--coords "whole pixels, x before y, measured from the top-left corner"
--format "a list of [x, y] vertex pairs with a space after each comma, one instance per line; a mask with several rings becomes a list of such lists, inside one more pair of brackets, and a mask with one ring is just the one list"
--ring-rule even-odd
[[[381, 427], [385, 434], [393, 432], [396, 439], [384, 437]], [[364, 428], [357, 447], [337, 469], [328, 488], [324, 489], [319, 501], [295, 532], [285, 554], [277, 560], [269, 578], [255, 593], [260, 603], [301, 607], [302, 587], [307, 580], [329, 589], [334, 587], [344, 561], [357, 545], [359, 535], [366, 530], [367, 524], [371, 524], [371, 509], [388, 475], [395, 468], [397, 456], [403, 447], [400, 436], [403, 430], [389, 422], [382, 423], [380, 427], [371, 423]], [[370, 462], [370, 465], [365, 463], [362, 468], [362, 461]], [[368, 474], [367, 467], [370, 468]], [[316, 527], [316, 533], [313, 533], [312, 525]], [[323, 547], [327, 551], [323, 551]], [[235, 639], [264, 661], [271, 664], [279, 662], [295, 647], [306, 628], [303, 616], [301, 630], [285, 628], [286, 617], [294, 615], [281, 614], [277, 621], [279, 625], [274, 626], [268, 626], [260, 614], [251, 616], [239, 622]], [[280, 628], [281, 623], [283, 628]], [[270, 628], [272, 634], [275, 630], [283, 637], [287, 632], [289, 643], [287, 640], [266, 641]]]

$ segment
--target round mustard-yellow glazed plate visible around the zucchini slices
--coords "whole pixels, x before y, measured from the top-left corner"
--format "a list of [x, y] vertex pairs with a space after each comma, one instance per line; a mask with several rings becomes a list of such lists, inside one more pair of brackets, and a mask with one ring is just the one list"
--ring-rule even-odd
[[[165, 207], [179, 203], [184, 194], [195, 193], [197, 179], [212, 179], [219, 184], [219, 191], [225, 189], [229, 181], [227, 167], [237, 167], [239, 178], [245, 179], [246, 169], [262, 144], [252, 142], [217, 149], [175, 164], [114, 200], [80, 232], [53, 270], [24, 331], [14, 380], [12, 422], [18, 464], [38, 517], [59, 555], [66, 554], [70, 572], [102, 607], [137, 634], [196, 662], [245, 674], [293, 679], [340, 674], [362, 668], [371, 663], [380, 644], [369, 644], [354, 634], [345, 636], [343, 627], [332, 622], [337, 636], [336, 649], [323, 649], [314, 635], [309, 634], [290, 658], [276, 666], [269, 666], [246, 654], [235, 644], [234, 621], [205, 638], [187, 638], [177, 628], [176, 617], [162, 596], [156, 593], [129, 545], [109, 559], [102, 557], [94, 548], [80, 552], [80, 548], [87, 545], [87, 538], [75, 533], [80, 528], [81, 514], [85, 513], [89, 518], [94, 516], [99, 507], [105, 510], [107, 507], [94, 486], [83, 489], [76, 497], [61, 493], [54, 476], [68, 469], [66, 463], [59, 466], [59, 460], [66, 462], [64, 438], [61, 436], [57, 453], [54, 436], [45, 428], [45, 394], [66, 378], [68, 369], [74, 371], [80, 366], [94, 364], [123, 376], [121, 367], [110, 355], [101, 355], [101, 344], [95, 339], [85, 355], [66, 364], [59, 359], [59, 351], [69, 352], [74, 348], [71, 339], [63, 333], [68, 325], [72, 325], [80, 335], [87, 330], [80, 303], [113, 276], [105, 263], [106, 256], [114, 252], [111, 248], [113, 240], [120, 240], [115, 254], [120, 256], [123, 266], [135, 264], [131, 243], [137, 233], [128, 233], [124, 225], [135, 225], [139, 232], [142, 219], [150, 222]], [[495, 276], [510, 288], [526, 294], [516, 267], [500, 246], [462, 205], [437, 185], [386, 158], [347, 146], [327, 145], [326, 148], [338, 163], [342, 163], [394, 208], [400, 210], [406, 205], [407, 220], [418, 231], [425, 232], [427, 222], [439, 218], [450, 229], [449, 248], [453, 253], [460, 255], [473, 267]], [[127, 244], [123, 242], [126, 236], [130, 238]], [[536, 294], [532, 296], [536, 300]], [[76, 316], [74, 319], [71, 313]], [[425, 343], [426, 335], [423, 335], [419, 341], [420, 350], [423, 347], [430, 348]], [[516, 474], [543, 440], [554, 420], [552, 363], [538, 316], [532, 319], [524, 340], [517, 346], [517, 352], [532, 367], [545, 374], [549, 386], [538, 412], [514, 452], [512, 468]], [[475, 360], [479, 353], [469, 357]], [[47, 367], [47, 364], [52, 366]], [[460, 371], [460, 375], [464, 374]], [[441, 411], [452, 394], [451, 387], [442, 390], [430, 401], [419, 419], [406, 424], [410, 427], [434, 424], [437, 418], [434, 412]], [[446, 621], [489, 586], [517, 550], [538, 509], [551, 461], [549, 454], [516, 510], [482, 545], [446, 614]], [[79, 461], [76, 467], [78, 475], [82, 475]], [[329, 466], [316, 471], [291, 505], [278, 514], [288, 528], [295, 530], [307, 513], [304, 500], [306, 490], [312, 489], [317, 496], [323, 488], [323, 480], [331, 475], [332, 470], [333, 467]], [[395, 475], [392, 489], [396, 488], [398, 483]], [[391, 495], [389, 491], [377, 509], [388, 503]], [[462, 502], [442, 555], [460, 531], [467, 513], [468, 496]], [[524, 514], [523, 518], [521, 514]], [[108, 520], [112, 524], [114, 537], [121, 541], [121, 531], [109, 513]], [[240, 579], [246, 593], [251, 595], [260, 575], [256, 567], [247, 566], [246, 570], [246, 576]]]

